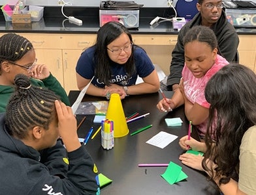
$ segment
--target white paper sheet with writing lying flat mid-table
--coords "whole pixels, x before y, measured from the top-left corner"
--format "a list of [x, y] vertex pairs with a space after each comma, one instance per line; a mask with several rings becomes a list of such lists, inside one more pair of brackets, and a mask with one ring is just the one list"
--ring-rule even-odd
[[160, 131], [159, 133], [157, 133], [157, 135], [146, 141], [146, 143], [163, 149], [168, 146], [168, 144], [173, 142], [176, 138], [178, 138], [178, 136], [166, 133], [165, 131]]

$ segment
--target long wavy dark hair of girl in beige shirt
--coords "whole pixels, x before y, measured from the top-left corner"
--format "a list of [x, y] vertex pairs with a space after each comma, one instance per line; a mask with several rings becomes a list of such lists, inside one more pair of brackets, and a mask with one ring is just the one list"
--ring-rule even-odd
[[[217, 164], [215, 176], [221, 178], [219, 185], [238, 179], [241, 140], [256, 124], [255, 86], [255, 73], [240, 64], [224, 66], [206, 85], [205, 97], [211, 105], [202, 166], [213, 175], [214, 170], [206, 166], [207, 159]], [[212, 125], [215, 122], [216, 127]]]

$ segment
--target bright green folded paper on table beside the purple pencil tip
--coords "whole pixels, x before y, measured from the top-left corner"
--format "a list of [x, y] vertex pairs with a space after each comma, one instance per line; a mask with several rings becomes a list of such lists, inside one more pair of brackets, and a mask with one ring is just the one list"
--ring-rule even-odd
[[161, 175], [170, 185], [182, 181], [187, 178], [187, 175], [182, 171], [182, 167], [170, 161], [167, 170]]

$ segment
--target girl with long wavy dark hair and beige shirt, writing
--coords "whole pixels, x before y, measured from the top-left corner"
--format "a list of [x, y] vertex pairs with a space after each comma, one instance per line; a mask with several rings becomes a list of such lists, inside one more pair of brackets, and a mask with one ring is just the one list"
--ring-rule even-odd
[[230, 64], [223, 67], [208, 81], [205, 89], [211, 106], [204, 148], [193, 138], [180, 140], [184, 149], [189, 145], [192, 149], [206, 151], [204, 157], [183, 154], [180, 160], [205, 171], [225, 195], [256, 194], [255, 86], [256, 75], [246, 66]]

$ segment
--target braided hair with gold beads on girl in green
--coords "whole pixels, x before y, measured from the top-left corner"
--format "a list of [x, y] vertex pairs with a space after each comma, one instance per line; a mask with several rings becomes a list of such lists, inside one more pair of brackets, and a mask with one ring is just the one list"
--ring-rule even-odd
[[[33, 49], [33, 45], [27, 38], [15, 33], [4, 34], [0, 37], [0, 63], [8, 60], [15, 62]], [[1, 74], [1, 66], [0, 66]]]

